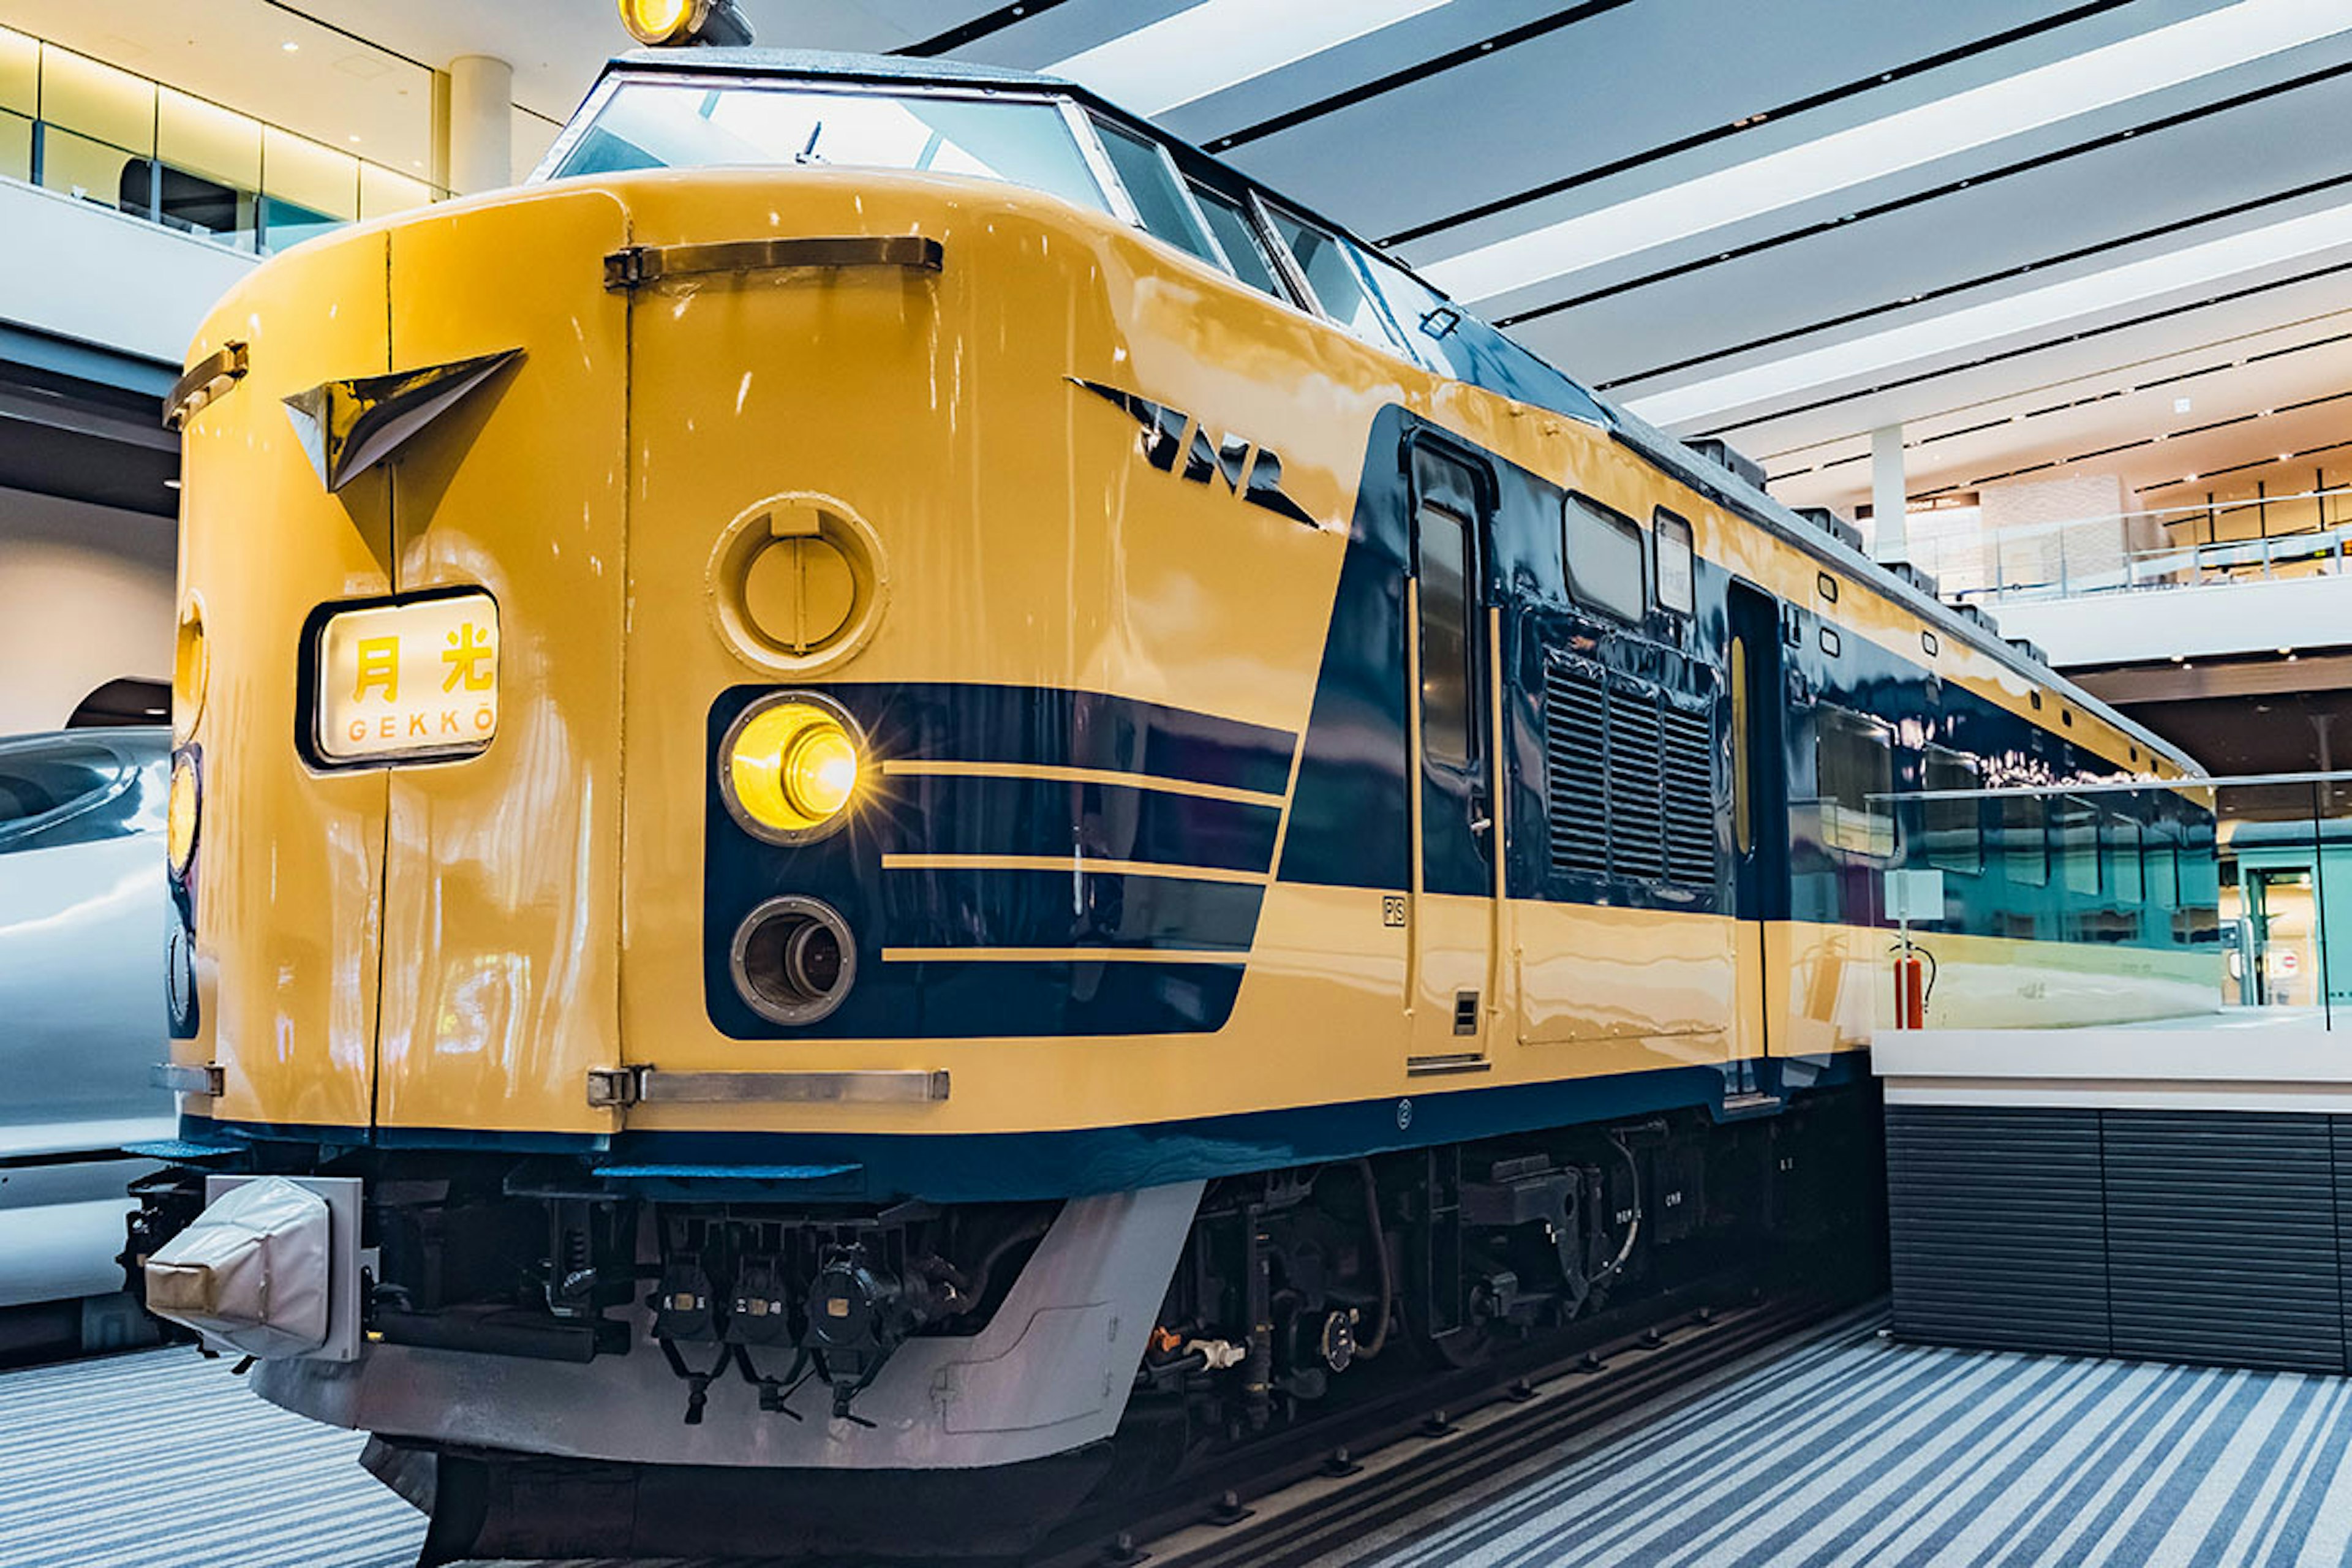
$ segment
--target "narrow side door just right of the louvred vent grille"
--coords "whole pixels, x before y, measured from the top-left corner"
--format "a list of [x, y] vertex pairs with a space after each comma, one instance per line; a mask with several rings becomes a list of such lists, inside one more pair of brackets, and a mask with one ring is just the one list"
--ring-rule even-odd
[[1773, 964], [1773, 929], [1788, 924], [1788, 755], [1780, 602], [1752, 583], [1729, 590], [1731, 865], [1738, 914], [1738, 1056], [1766, 1056], [1788, 1018], [1788, 954]]

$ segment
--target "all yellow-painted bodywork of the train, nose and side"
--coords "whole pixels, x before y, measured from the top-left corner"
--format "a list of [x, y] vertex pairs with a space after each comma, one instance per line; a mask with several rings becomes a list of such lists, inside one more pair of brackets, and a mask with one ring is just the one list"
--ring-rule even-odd
[[[858, 233], [934, 237], [948, 263], [602, 284], [621, 244]], [[270, 261], [193, 355], [230, 336], [254, 371], [188, 428], [183, 545], [214, 670], [195, 733], [205, 1023], [176, 1056], [230, 1067], [219, 1117], [1044, 1131], [1719, 1065], [1766, 1039], [1844, 1051], [1882, 1025], [1886, 931], [1759, 940], [1717, 914], [1465, 896], [1423, 896], [1397, 926], [1390, 891], [1275, 882], [1214, 1034], [729, 1039], [703, 1006], [706, 943], [724, 940], [703, 924], [706, 726], [729, 686], [786, 682], [729, 642], [713, 574], [764, 501], [849, 517], [877, 555], [870, 635], [793, 684], [1058, 686], [1291, 733], [1388, 404], [1628, 515], [1670, 505], [1703, 557], [1832, 609], [1820, 564], [1604, 433], [1435, 378], [1108, 216], [976, 181], [652, 172], [452, 202]], [[506, 348], [524, 360], [341, 494], [278, 407], [334, 376]], [[1152, 470], [1136, 423], [1070, 376], [1277, 444], [1319, 527]], [[303, 618], [442, 585], [499, 599], [496, 743], [454, 764], [303, 766]], [[1917, 616], [1860, 583], [1832, 618], [1929, 658]], [[1933, 663], [2030, 708], [2020, 675], [1957, 639]], [[2070, 738], [2119, 766], [2138, 745], [2096, 715]], [[1955, 952], [1938, 1006], [1987, 999], [2002, 961]], [[1790, 976], [1785, 1013], [1759, 1006], [1759, 969]], [[1456, 1037], [1451, 999], [1472, 985], [1479, 1032]], [[1484, 1065], [1414, 1077], [1432, 1053]], [[948, 1070], [953, 1095], [590, 1110], [588, 1070], [623, 1063]]]

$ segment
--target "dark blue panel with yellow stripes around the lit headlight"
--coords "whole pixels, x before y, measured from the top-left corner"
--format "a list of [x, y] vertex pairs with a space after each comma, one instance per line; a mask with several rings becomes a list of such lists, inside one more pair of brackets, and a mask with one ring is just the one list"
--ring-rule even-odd
[[[706, 745], [774, 686], [734, 686]], [[889, 867], [884, 856], [1056, 856], [1202, 870], [1268, 870], [1279, 811], [1143, 785], [891, 773], [891, 762], [1000, 762], [1148, 773], [1279, 795], [1291, 736], [1087, 691], [990, 684], [828, 684], [866, 729], [863, 799], [816, 844], [743, 832], [703, 802], [703, 1004], [734, 1039], [969, 1039], [1176, 1034], [1225, 1025], [1263, 889], [1143, 872]], [[736, 926], [779, 893], [823, 898], [856, 938], [847, 1001], [783, 1027], [734, 987]], [[884, 961], [889, 947], [1068, 950], [1103, 959]], [[1235, 964], [1122, 961], [1131, 950], [1230, 952]]]

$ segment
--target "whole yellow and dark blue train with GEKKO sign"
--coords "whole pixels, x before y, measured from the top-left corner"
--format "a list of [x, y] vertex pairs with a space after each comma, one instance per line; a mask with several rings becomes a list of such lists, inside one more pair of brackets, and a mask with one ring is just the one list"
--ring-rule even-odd
[[2185, 757], [1065, 82], [616, 59], [172, 421], [129, 1258], [428, 1556], [1004, 1544], [1802, 1227], [1896, 856], [1929, 1023], [2216, 985]]

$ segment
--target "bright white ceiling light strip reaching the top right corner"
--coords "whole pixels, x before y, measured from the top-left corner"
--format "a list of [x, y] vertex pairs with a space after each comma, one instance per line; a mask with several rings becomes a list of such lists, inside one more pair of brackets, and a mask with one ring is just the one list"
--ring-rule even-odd
[[1679, 186], [1545, 223], [1423, 270], [1430, 282], [1458, 299], [1494, 299], [2126, 99], [2180, 87], [2347, 28], [2352, 12], [2343, 0], [2239, 0]]

